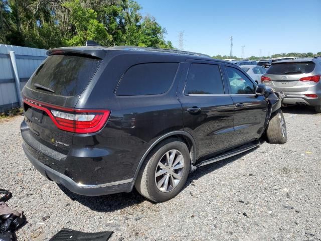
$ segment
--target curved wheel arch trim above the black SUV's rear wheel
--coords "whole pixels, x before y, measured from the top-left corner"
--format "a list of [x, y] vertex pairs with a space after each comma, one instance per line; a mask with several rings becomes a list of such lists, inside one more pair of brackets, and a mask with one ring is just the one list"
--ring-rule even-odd
[[192, 137], [191, 134], [184, 132], [184, 131], [174, 131], [174, 132], [170, 132], [167, 133], [161, 137], [159, 137], [156, 141], [154, 141], [150, 147], [147, 149], [147, 151], [144, 153], [144, 155], [142, 156], [142, 158], [140, 159], [138, 166], [136, 168], [134, 177], [133, 177], [133, 182], [132, 182], [132, 187], [134, 186], [134, 183], [136, 181], [136, 178], [138, 176], [139, 170], [143, 164], [143, 162], [145, 161], [146, 157], [148, 156], [148, 154], [150, 153], [151, 150], [153, 150], [157, 144], [161, 143], [162, 141], [168, 139], [168, 138], [173, 138], [176, 137], [177, 139], [182, 140], [185, 144], [187, 144], [187, 147], [189, 149], [190, 152], [190, 156], [191, 156], [191, 164], [194, 164], [196, 161], [196, 144], [195, 144], [195, 140]]

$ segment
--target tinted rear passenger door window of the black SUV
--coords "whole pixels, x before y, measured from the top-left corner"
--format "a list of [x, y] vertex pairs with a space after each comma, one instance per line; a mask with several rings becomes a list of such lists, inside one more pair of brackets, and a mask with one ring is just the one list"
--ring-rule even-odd
[[191, 64], [185, 86], [186, 94], [224, 94], [218, 65]]

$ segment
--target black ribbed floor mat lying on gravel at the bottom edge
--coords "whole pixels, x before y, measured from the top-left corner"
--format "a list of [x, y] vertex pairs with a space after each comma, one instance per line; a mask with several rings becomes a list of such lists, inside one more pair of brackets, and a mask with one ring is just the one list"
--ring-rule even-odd
[[107, 241], [112, 232], [80, 232], [68, 228], [61, 229], [49, 241]]

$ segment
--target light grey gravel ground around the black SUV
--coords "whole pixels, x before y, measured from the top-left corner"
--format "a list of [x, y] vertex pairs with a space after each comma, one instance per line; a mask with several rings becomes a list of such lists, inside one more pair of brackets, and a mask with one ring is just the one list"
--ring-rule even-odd
[[[18, 240], [48, 240], [62, 227], [113, 230], [110, 240], [321, 240], [321, 115], [283, 108], [288, 141], [199, 168], [174, 199], [136, 191], [84, 197], [45, 179], [21, 147], [22, 116], [0, 123], [0, 177], [28, 223]], [[43, 217], [50, 216], [45, 221]]]

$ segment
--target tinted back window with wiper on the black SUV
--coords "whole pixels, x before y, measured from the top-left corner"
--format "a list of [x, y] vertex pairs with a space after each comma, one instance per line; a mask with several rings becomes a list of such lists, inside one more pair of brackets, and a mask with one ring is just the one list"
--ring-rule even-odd
[[99, 59], [81, 56], [49, 56], [28, 81], [27, 87], [53, 95], [80, 95], [87, 87], [100, 62]]

